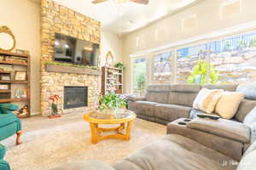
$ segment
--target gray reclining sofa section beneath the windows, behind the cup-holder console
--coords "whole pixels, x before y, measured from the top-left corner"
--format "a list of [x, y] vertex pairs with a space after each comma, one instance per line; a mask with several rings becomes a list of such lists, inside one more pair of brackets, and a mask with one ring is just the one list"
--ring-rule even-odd
[[[224, 89], [236, 91], [237, 85], [189, 85], [172, 84], [148, 86], [145, 97], [130, 96], [128, 109], [137, 113], [137, 117], [151, 122], [167, 124], [178, 118], [194, 118], [198, 113], [192, 108], [193, 102], [201, 88]], [[256, 105], [255, 99], [243, 99], [236, 116], [236, 122], [243, 122], [244, 117]]]

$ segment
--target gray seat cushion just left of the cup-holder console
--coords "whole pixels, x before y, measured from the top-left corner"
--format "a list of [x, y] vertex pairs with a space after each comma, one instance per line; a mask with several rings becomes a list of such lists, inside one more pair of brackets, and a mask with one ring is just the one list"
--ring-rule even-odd
[[159, 104], [154, 106], [154, 116], [172, 122], [179, 117], [189, 117], [191, 109], [183, 105]]

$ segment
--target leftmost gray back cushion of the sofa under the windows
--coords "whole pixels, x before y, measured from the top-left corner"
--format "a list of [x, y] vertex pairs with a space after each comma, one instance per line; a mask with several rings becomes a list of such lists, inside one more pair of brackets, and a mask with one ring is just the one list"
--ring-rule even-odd
[[150, 85], [147, 88], [145, 98], [147, 101], [166, 104], [170, 90], [170, 85]]

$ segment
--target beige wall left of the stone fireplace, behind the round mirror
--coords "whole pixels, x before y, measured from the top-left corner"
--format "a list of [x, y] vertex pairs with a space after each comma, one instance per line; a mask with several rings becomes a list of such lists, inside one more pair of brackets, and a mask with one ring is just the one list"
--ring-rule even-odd
[[16, 48], [31, 53], [32, 114], [40, 111], [39, 59], [40, 59], [40, 6], [28, 0], [1, 0], [0, 26], [8, 26], [16, 37]]

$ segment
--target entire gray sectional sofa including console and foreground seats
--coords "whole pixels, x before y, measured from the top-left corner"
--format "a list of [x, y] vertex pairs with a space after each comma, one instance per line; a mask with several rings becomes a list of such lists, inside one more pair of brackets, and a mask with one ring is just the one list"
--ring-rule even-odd
[[[146, 145], [113, 166], [100, 161], [83, 161], [53, 170], [256, 169], [255, 129], [243, 123], [247, 113], [256, 106], [256, 96], [251, 97], [253, 90], [247, 88], [244, 92], [247, 99], [242, 100], [232, 120], [214, 121], [197, 117], [201, 111], [192, 109], [201, 88], [200, 85], [177, 84], [149, 86], [145, 97], [130, 97], [128, 107], [140, 118], [167, 124], [164, 138]], [[207, 85], [204, 88], [236, 91], [237, 85]], [[186, 125], [178, 124], [186, 118], [192, 120]]]

